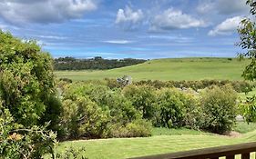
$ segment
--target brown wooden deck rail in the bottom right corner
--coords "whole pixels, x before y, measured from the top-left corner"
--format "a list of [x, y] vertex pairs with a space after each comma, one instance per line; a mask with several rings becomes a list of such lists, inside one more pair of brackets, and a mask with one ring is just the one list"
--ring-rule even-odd
[[256, 152], [256, 142], [224, 145], [171, 154], [142, 156], [132, 159], [219, 159], [219, 157], [223, 156], [226, 159], [234, 159], [236, 154], [241, 154], [241, 159], [250, 159], [250, 153], [253, 152]]

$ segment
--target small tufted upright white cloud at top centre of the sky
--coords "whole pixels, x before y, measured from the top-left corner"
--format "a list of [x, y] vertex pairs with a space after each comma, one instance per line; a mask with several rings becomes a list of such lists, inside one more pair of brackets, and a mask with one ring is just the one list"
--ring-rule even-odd
[[122, 25], [125, 29], [134, 29], [142, 22], [143, 17], [143, 12], [140, 9], [133, 11], [127, 6], [125, 10], [118, 10], [116, 24]]

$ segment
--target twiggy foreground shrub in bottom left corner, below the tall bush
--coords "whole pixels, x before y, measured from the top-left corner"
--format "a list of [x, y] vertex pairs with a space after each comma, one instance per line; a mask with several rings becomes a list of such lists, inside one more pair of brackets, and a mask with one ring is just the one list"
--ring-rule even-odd
[[0, 158], [41, 158], [44, 154], [53, 154], [55, 133], [46, 131], [46, 126], [26, 128], [14, 120], [8, 109], [1, 107]]

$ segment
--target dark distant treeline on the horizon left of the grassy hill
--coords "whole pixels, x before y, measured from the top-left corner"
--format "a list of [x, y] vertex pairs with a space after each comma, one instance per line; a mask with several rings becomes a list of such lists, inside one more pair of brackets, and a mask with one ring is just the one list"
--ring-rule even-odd
[[55, 70], [107, 70], [146, 62], [144, 59], [104, 59], [101, 56], [88, 59], [59, 57], [54, 60]]

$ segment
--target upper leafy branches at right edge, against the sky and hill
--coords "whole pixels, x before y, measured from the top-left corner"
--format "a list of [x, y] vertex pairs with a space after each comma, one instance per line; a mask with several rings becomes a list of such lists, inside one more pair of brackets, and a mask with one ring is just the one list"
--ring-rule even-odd
[[247, 80], [254, 81], [256, 79], [256, 1], [247, 0], [246, 4], [251, 6], [251, 16], [241, 21], [241, 26], [238, 29], [241, 41], [238, 45], [247, 51], [240, 56], [251, 58], [251, 64], [246, 66], [242, 76]]

